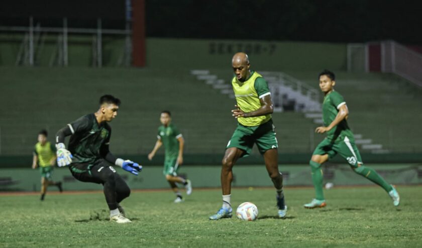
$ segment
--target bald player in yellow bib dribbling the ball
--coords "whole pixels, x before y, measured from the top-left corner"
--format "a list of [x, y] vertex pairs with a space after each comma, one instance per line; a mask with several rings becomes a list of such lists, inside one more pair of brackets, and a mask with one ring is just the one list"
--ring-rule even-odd
[[283, 177], [278, 171], [278, 143], [271, 120], [274, 107], [268, 84], [258, 72], [250, 70], [245, 53], [239, 52], [233, 56], [232, 67], [235, 73], [232, 86], [237, 102], [232, 115], [237, 119], [238, 126], [226, 146], [222, 161], [223, 206], [209, 219], [232, 217], [232, 168], [239, 158], [251, 153], [254, 144], [264, 156], [265, 167], [276, 189], [278, 216], [284, 218], [287, 206], [284, 204]]

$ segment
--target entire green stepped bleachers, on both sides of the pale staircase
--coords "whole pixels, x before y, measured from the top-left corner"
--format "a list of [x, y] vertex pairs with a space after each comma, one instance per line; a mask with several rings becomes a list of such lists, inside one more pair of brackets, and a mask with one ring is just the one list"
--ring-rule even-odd
[[[225, 80], [232, 76], [230, 68], [215, 73]], [[287, 73], [318, 87], [318, 72]], [[236, 128], [230, 113], [235, 100], [189, 70], [0, 67], [0, 74], [0, 155], [31, 154], [40, 129], [46, 128], [53, 140], [59, 128], [95, 112], [103, 94], [122, 100], [111, 123], [116, 154], [147, 154], [161, 110], [172, 111], [186, 153], [223, 155]], [[420, 92], [391, 75], [339, 72], [337, 77], [336, 89], [348, 103], [355, 133], [392, 152], [422, 150]], [[274, 113], [273, 120], [280, 152], [310, 153], [324, 137], [313, 133], [318, 124], [303, 113]]]

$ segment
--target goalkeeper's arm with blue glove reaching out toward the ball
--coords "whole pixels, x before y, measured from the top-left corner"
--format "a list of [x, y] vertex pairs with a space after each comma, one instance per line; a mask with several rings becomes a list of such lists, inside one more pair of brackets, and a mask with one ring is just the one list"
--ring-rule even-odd
[[112, 134], [112, 130], [109, 130], [109, 136], [105, 139], [104, 143], [99, 148], [99, 154], [103, 157], [106, 161], [115, 164], [116, 166], [121, 167], [123, 170], [130, 172], [136, 176], [138, 176], [139, 172], [142, 170], [142, 166], [138, 163], [131, 161], [131, 160], [124, 160], [123, 158], [118, 158], [113, 153], [110, 152], [110, 137]]

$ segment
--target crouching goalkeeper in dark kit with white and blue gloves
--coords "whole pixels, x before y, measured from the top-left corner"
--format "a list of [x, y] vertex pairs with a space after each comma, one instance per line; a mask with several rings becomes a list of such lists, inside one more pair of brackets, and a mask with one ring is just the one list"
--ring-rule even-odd
[[[57, 132], [57, 165], [69, 166], [73, 177], [81, 182], [102, 184], [110, 208], [110, 220], [131, 222], [120, 205], [131, 190], [110, 163], [134, 175], [138, 175], [142, 166], [117, 158], [109, 151], [112, 129], [108, 122], [116, 118], [120, 100], [104, 95], [99, 99], [99, 105], [97, 112], [82, 116]], [[69, 135], [69, 144], [65, 147], [64, 139]]]

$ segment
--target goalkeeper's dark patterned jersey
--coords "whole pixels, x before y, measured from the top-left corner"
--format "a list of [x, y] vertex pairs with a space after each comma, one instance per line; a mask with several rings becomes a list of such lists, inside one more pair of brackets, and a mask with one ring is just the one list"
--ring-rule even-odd
[[98, 125], [94, 114], [82, 116], [68, 124], [72, 131], [67, 146], [72, 163], [93, 163], [109, 152], [112, 128], [107, 122]]

